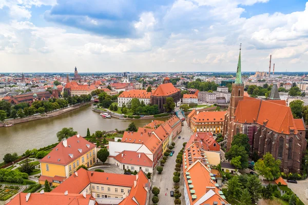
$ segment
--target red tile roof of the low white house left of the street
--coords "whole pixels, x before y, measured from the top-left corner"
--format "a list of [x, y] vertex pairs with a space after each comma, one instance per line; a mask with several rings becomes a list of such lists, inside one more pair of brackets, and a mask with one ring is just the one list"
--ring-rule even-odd
[[136, 151], [123, 151], [114, 157], [120, 163], [128, 165], [138, 165], [144, 167], [153, 167], [153, 161], [150, 160], [144, 153]]

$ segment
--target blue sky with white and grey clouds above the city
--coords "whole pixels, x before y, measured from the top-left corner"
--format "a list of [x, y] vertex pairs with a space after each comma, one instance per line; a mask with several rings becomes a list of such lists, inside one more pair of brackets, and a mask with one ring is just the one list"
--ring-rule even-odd
[[[0, 0], [0, 72], [307, 71], [300, 0]], [[273, 65], [272, 65], [273, 68]]]

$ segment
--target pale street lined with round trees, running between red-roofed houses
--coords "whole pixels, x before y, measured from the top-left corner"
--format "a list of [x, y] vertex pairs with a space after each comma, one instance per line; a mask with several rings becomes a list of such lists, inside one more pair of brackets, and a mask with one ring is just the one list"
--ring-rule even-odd
[[[160, 194], [159, 194], [159, 202], [158, 204], [174, 204], [174, 197], [170, 196], [170, 191], [174, 191], [174, 182], [173, 182], [173, 173], [175, 172], [175, 167], [176, 167], [176, 158], [180, 150], [183, 148], [183, 142], [188, 141], [188, 139], [191, 136], [191, 131], [187, 127], [187, 122], [184, 121], [184, 126], [182, 127], [182, 132], [179, 134], [181, 138], [179, 139], [178, 137], [174, 139], [174, 142], [176, 142], [176, 146], [173, 149], [175, 151], [175, 154], [173, 156], [169, 156], [162, 174], [158, 174], [157, 170], [155, 169], [153, 172], [153, 178], [152, 178], [152, 187], [158, 187], [160, 189]], [[183, 139], [184, 137], [184, 139]], [[160, 163], [159, 163], [160, 164]], [[181, 168], [182, 169], [182, 168]], [[181, 202], [184, 204], [184, 193], [183, 193], [183, 173], [181, 170], [181, 176], [180, 176], [180, 191], [182, 193]], [[168, 189], [168, 190], [167, 190]], [[166, 196], [167, 194], [167, 196]], [[151, 194], [150, 196], [150, 204], [152, 204], [152, 197], [153, 195]]]

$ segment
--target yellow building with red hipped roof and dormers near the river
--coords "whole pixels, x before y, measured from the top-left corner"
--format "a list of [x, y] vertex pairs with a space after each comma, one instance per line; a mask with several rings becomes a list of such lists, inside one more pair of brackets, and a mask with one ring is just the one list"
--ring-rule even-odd
[[42, 185], [47, 180], [51, 185], [58, 186], [79, 166], [91, 167], [97, 160], [96, 156], [96, 145], [79, 134], [74, 135], [61, 141], [41, 159], [41, 177], [38, 180]]

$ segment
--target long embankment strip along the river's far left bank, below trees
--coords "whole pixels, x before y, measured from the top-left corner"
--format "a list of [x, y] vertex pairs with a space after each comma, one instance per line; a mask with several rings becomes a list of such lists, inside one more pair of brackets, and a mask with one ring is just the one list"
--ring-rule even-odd
[[[10, 120], [6, 120], [5, 122], [6, 122], [6, 124], [9, 124], [9, 125], [10, 124], [11, 125], [15, 125], [15, 124], [20, 124], [20, 123], [23, 123], [23, 122], [28, 122], [28, 121], [33, 121], [33, 120], [45, 119], [45, 118], [49, 118], [49, 117], [55, 117], [55, 116], [61, 115], [63, 113], [66, 113], [66, 112], [69, 112], [69, 111], [81, 108], [81, 107], [86, 106], [86, 105], [89, 105], [91, 103], [92, 102], [82, 103], [82, 104], [70, 106], [68, 108], [63, 108], [63, 109], [60, 109], [60, 110], [56, 110], [56, 111], [52, 111], [52, 112], [49, 112], [49, 113], [41, 114], [41, 115], [35, 115], [35, 116], [32, 115], [32, 116], [25, 117], [25, 118], [10, 119]], [[4, 124], [1, 123], [0, 127], [4, 127]]]

